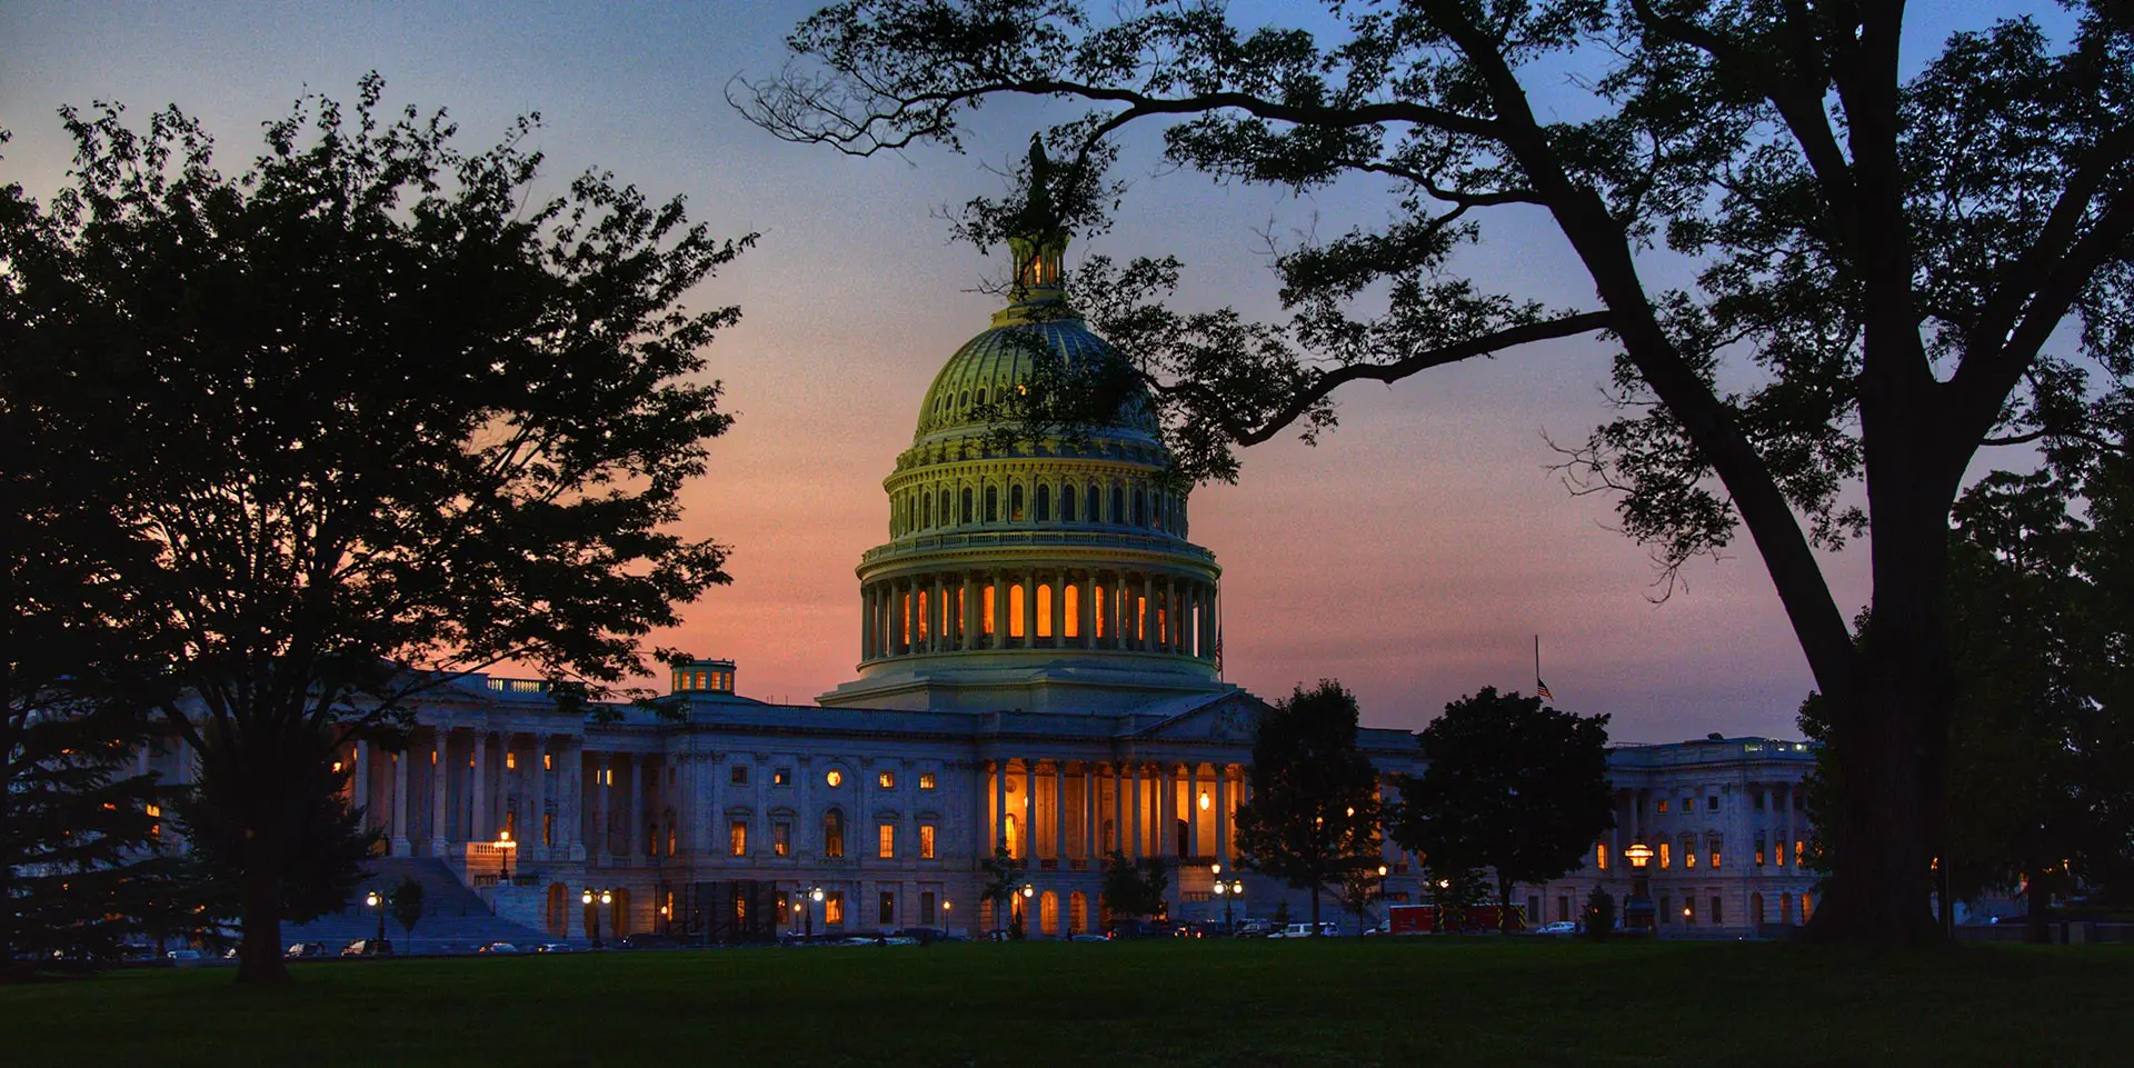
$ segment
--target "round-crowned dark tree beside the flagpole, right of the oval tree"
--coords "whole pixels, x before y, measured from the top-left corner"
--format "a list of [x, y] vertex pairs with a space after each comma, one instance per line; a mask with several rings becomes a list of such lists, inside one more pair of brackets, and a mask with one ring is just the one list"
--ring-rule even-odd
[[1400, 780], [1394, 840], [1432, 865], [1494, 870], [1507, 932], [1513, 883], [1575, 872], [1615, 825], [1607, 716], [1575, 716], [1541, 697], [1483, 686], [1447, 703], [1419, 740], [1428, 765]]

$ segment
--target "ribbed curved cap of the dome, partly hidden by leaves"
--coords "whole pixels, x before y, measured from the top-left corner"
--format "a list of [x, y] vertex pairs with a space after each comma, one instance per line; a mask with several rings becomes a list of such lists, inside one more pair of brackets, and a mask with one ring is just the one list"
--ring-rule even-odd
[[[1080, 318], [994, 326], [965, 341], [935, 375], [926, 401], [920, 403], [920, 424], [913, 439], [958, 426], [984, 426], [986, 420], [980, 416], [984, 405], [997, 405], [1012, 390], [1029, 384], [1037, 373], [1035, 356], [1039, 352], [1056, 354], [1065, 362], [1067, 375], [1095, 371], [1097, 365], [1114, 358], [1112, 345], [1088, 333]], [[1127, 405], [1118, 426], [1152, 431], [1148, 405]]]

